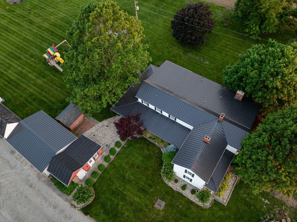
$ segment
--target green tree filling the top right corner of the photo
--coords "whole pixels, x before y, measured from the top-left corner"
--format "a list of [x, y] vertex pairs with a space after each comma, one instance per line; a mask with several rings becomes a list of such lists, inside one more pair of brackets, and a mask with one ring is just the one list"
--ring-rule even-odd
[[247, 27], [245, 31], [257, 37], [260, 33], [275, 33], [283, 25], [296, 25], [296, 0], [237, 0], [235, 12]]

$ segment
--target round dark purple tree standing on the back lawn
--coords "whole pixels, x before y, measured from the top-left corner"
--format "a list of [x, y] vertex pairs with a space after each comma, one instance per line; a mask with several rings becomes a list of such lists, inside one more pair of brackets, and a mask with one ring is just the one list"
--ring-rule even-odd
[[206, 43], [206, 34], [211, 33], [215, 20], [211, 18], [210, 6], [203, 2], [188, 4], [173, 16], [172, 36], [181, 44], [201, 46]]

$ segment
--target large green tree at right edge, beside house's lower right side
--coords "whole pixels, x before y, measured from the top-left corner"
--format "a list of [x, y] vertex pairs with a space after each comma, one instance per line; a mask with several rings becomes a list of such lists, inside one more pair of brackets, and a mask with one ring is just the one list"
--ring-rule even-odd
[[297, 191], [297, 106], [267, 116], [241, 145], [233, 163], [254, 193], [274, 189], [290, 197]]

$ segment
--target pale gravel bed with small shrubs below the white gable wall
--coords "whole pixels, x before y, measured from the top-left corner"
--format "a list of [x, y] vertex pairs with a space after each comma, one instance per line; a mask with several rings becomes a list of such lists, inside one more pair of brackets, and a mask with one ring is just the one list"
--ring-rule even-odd
[[[183, 194], [184, 196], [186, 196], [187, 198], [189, 198], [190, 200], [192, 200], [196, 204], [200, 205], [201, 207], [209, 208], [209, 207], [211, 207], [212, 203], [214, 202], [214, 197], [211, 197], [210, 201], [207, 204], [202, 204], [201, 202], [199, 202], [199, 200], [196, 197], [199, 189], [197, 187], [189, 184], [187, 181], [182, 180], [181, 178], [179, 178], [176, 175], [174, 175], [174, 179], [172, 181], [165, 180], [165, 178], [163, 176], [162, 176], [162, 178], [165, 181], [165, 183], [167, 183], [169, 186], [171, 186], [174, 190], [180, 192], [181, 194]], [[178, 183], [174, 182], [175, 179], [178, 180]], [[181, 189], [181, 186], [183, 186], [184, 184], [187, 184], [186, 190]], [[192, 189], [196, 190], [195, 194], [191, 194]]]

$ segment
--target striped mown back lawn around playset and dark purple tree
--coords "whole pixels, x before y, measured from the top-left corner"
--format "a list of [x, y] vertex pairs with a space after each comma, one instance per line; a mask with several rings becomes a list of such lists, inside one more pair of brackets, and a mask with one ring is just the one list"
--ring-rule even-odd
[[[77, 7], [87, 2], [89, 1], [31, 0], [10, 5], [5, 0], [0, 1], [0, 96], [5, 98], [4, 104], [20, 118], [25, 118], [40, 109], [50, 116], [56, 117], [67, 106], [66, 98], [69, 95], [69, 90], [66, 89], [63, 82], [63, 76], [66, 72], [60, 72], [54, 67], [47, 66], [42, 54], [50, 45], [58, 44], [65, 38], [66, 30], [77, 16], [71, 14], [78, 13], [79, 8]], [[170, 19], [163, 17], [172, 18], [173, 14], [149, 7], [143, 3], [162, 8], [168, 12], [176, 12], [184, 7], [184, 0], [143, 0], [139, 2], [138, 17], [142, 21], [146, 36], [144, 42], [149, 44], [152, 64], [160, 65], [164, 60], [170, 60], [211, 80], [222, 83], [222, 69], [228, 64], [235, 63], [237, 55], [244, 53], [251, 46], [249, 42], [217, 33], [208, 35], [207, 44], [203, 47], [193, 49], [192, 47], [181, 46], [171, 36]], [[122, 8], [133, 5], [133, 1], [119, 3]], [[215, 13], [222, 10], [223, 7], [213, 5], [211, 9]], [[135, 15], [133, 8], [123, 10], [130, 15]], [[40, 19], [30, 19], [36, 17]], [[243, 32], [243, 27], [238, 23], [231, 23], [227, 27], [219, 22], [217, 25]], [[247, 36], [220, 28], [214, 28], [214, 31], [253, 41]], [[290, 32], [285, 31], [271, 37], [286, 43], [290, 39], [290, 35]], [[263, 36], [265, 39], [268, 37], [270, 36]], [[189, 56], [189, 53], [192, 53], [192, 56]], [[203, 57], [204, 60], [197, 60], [195, 59], [196, 56]], [[209, 61], [209, 64], [206, 64], [206, 61]], [[99, 121], [110, 116], [114, 116], [114, 113], [109, 111], [109, 108], [104, 109], [101, 114], [94, 115]]]

